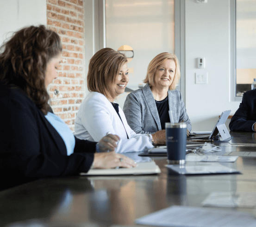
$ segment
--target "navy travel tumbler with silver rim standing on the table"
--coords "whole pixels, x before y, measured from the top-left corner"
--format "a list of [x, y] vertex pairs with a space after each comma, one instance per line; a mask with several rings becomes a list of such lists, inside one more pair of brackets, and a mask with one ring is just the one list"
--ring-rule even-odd
[[165, 123], [168, 164], [185, 164], [187, 124]]

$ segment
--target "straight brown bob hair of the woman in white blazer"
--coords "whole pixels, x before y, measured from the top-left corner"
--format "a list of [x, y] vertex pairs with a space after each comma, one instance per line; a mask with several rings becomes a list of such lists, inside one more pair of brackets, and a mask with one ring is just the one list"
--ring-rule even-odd
[[109, 84], [116, 80], [119, 70], [125, 62], [127, 62], [125, 54], [111, 48], [100, 49], [94, 54], [89, 63], [88, 90], [99, 92], [107, 98], [114, 97]]

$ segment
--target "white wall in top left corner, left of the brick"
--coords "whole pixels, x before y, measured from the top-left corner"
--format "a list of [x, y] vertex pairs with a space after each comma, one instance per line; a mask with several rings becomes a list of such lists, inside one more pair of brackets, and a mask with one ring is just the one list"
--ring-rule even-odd
[[0, 45], [9, 32], [46, 22], [46, 0], [0, 0]]

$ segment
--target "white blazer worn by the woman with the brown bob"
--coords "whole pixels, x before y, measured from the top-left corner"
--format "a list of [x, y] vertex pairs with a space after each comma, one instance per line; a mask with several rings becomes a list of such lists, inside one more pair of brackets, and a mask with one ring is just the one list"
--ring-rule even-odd
[[[90, 92], [78, 110], [75, 118], [75, 133], [79, 139], [100, 141], [107, 132], [118, 135], [120, 141], [116, 153], [143, 151], [153, 148], [150, 138], [145, 134], [136, 134], [128, 125], [125, 114], [119, 108], [119, 115], [106, 96]], [[127, 139], [127, 135], [129, 139]]]

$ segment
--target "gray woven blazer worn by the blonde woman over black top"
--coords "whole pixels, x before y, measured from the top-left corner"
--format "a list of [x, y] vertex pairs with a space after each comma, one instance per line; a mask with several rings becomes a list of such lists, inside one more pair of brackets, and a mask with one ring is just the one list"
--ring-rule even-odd
[[[168, 90], [169, 108], [173, 111], [175, 123], [187, 123], [187, 129], [192, 126], [187, 116], [187, 111], [179, 90]], [[156, 102], [150, 90], [149, 84], [143, 88], [131, 92], [125, 100], [124, 113], [128, 125], [136, 133], [153, 134], [162, 130], [160, 118], [156, 108]]]

